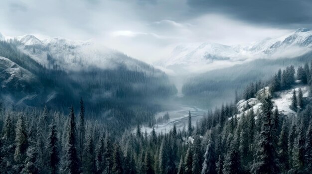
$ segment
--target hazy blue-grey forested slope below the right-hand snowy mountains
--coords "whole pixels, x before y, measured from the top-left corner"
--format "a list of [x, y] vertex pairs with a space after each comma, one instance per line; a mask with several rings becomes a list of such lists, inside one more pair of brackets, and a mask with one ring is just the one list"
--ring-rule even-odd
[[[235, 91], [240, 95], [251, 82], [262, 81], [263, 85], [272, 74], [287, 66], [299, 66], [309, 62], [312, 53], [295, 58], [257, 59], [228, 68], [216, 69], [187, 78], [182, 86], [186, 104], [215, 107], [233, 100]], [[254, 84], [255, 85], [255, 84]]]

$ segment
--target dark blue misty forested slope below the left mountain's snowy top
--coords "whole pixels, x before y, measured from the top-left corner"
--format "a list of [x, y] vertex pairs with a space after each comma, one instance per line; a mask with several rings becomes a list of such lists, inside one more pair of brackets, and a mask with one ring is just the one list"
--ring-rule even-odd
[[120, 63], [107, 69], [88, 66], [74, 71], [57, 64], [47, 68], [19, 51], [18, 45], [16, 40], [0, 41], [0, 56], [10, 62], [4, 64], [11, 64], [0, 67], [0, 99], [6, 108], [46, 105], [63, 113], [71, 105], [78, 108], [79, 102], [74, 101], [83, 97], [87, 118], [122, 133], [137, 123], [153, 122], [153, 115], [165, 107], [162, 102], [176, 93], [165, 73], [123, 54], [121, 58], [134, 62], [137, 69]]

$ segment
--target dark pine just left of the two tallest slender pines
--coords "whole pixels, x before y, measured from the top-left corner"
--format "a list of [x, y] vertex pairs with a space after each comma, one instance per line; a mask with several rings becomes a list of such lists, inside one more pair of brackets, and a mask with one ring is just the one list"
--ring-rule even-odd
[[51, 174], [57, 173], [57, 167], [59, 164], [59, 150], [58, 150], [58, 139], [56, 125], [51, 123], [50, 125], [50, 135], [48, 138], [47, 149], [49, 152], [49, 166], [51, 168]]

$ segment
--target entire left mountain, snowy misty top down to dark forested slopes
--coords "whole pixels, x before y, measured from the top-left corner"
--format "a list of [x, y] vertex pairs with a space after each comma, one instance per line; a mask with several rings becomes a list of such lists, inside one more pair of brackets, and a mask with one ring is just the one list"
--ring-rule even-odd
[[34, 35], [0, 34], [0, 82], [0, 100], [22, 107], [64, 107], [84, 96], [109, 109], [176, 92], [164, 72], [95, 41]]

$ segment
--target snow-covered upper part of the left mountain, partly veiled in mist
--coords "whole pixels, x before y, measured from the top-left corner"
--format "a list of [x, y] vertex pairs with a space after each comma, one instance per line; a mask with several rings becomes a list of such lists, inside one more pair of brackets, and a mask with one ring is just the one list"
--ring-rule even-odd
[[47, 68], [59, 66], [64, 70], [81, 70], [89, 67], [114, 69], [123, 65], [136, 71], [149, 72], [151, 69], [147, 64], [93, 40], [70, 40], [62, 37], [39, 39], [34, 35], [12, 37], [2, 34], [0, 40], [11, 40], [20, 51]]

